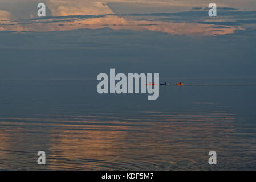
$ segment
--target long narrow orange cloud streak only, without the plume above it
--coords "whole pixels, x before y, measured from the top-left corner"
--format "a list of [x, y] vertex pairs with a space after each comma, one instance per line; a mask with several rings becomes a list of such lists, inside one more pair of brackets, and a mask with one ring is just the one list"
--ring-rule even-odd
[[[54, 19], [48, 19], [51, 21]], [[64, 18], [62, 20], [65, 20]], [[84, 20], [72, 20], [67, 22], [43, 23], [36, 20], [29, 24], [5, 24], [0, 30], [9, 31], [68, 31], [76, 29], [99, 29], [104, 27], [113, 30], [133, 30], [133, 31], [158, 31], [172, 35], [225, 35], [231, 34], [238, 28], [233, 26], [224, 26], [223, 28], [214, 28], [211, 24], [200, 23], [176, 23], [147, 20], [127, 20], [115, 15], [108, 15], [101, 18], [90, 18]]]

